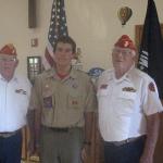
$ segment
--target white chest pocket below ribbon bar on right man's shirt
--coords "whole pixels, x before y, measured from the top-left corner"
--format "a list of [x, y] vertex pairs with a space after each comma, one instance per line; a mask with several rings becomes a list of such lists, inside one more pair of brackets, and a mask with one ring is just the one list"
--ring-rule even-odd
[[136, 92], [122, 91], [117, 98], [117, 111], [121, 115], [130, 115], [135, 111]]

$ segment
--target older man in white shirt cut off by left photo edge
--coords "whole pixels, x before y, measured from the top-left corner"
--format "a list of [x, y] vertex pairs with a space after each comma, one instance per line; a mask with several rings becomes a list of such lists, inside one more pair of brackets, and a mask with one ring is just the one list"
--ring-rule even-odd
[[16, 55], [13, 45], [0, 50], [0, 163], [21, 163], [30, 83], [15, 75]]

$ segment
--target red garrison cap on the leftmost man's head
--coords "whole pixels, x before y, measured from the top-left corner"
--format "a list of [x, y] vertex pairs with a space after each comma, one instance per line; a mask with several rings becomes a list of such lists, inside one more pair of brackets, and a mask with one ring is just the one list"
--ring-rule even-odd
[[8, 55], [17, 55], [16, 49], [12, 43], [5, 45], [1, 50], [0, 54], [8, 54]]

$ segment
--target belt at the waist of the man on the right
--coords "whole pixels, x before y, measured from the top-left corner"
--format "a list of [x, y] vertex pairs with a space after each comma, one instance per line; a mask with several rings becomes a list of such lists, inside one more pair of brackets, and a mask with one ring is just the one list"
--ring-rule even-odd
[[109, 143], [111, 143], [113, 146], [123, 146], [125, 143], [134, 142], [134, 141], [140, 140], [140, 139], [142, 139], [142, 140], [146, 139], [146, 135], [140, 136], [140, 137], [128, 138], [128, 139], [122, 140], [122, 141], [109, 141]]

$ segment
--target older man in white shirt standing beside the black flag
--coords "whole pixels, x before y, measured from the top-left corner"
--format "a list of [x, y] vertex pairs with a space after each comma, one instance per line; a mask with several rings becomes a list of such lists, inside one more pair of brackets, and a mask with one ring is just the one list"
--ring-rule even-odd
[[135, 68], [136, 47], [123, 35], [112, 51], [113, 70], [98, 80], [99, 127], [105, 163], [152, 163], [163, 110], [154, 80]]

